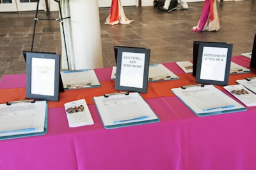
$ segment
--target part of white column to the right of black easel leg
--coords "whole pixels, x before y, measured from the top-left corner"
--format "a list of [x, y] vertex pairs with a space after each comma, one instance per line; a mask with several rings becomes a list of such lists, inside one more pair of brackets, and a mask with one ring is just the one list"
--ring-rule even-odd
[[75, 69], [103, 67], [98, 1], [70, 0]]

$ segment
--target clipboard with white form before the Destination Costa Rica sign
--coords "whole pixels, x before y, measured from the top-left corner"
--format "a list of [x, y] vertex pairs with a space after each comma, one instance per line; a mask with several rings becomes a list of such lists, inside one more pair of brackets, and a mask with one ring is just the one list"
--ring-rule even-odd
[[227, 96], [213, 85], [195, 86], [186, 89], [175, 88], [178, 96], [196, 114], [221, 113], [222, 111], [246, 110], [244, 106]]

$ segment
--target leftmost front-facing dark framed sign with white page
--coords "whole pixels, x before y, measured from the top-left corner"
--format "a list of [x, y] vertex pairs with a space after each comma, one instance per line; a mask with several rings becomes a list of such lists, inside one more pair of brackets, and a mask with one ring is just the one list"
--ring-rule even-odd
[[26, 98], [59, 101], [60, 55], [26, 53]]

